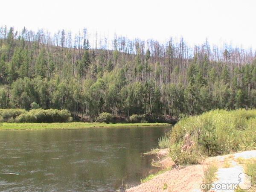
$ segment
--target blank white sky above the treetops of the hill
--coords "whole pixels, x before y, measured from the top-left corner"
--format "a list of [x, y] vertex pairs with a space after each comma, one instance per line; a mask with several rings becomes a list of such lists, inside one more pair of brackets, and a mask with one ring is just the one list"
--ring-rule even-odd
[[1, 0], [0, 25], [256, 49], [256, 0]]

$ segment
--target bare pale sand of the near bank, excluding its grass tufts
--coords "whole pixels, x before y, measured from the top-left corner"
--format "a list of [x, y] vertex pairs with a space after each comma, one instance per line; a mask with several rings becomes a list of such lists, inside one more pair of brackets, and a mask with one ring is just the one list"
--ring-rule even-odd
[[[211, 164], [216, 163], [218, 171], [217, 180], [214, 183], [238, 183], [238, 175], [244, 172], [243, 167], [237, 163], [238, 158], [248, 159], [256, 158], [256, 150], [243, 151], [236, 154], [224, 156], [209, 157], [203, 163], [198, 165], [186, 166], [182, 169], [172, 169], [157, 175], [146, 183], [128, 189], [128, 192], [200, 192], [201, 184], [204, 179], [204, 169]], [[166, 161], [171, 161], [166, 160]], [[227, 166], [227, 161], [230, 167]], [[168, 164], [168, 162], [165, 162]], [[172, 165], [172, 162], [169, 162]], [[221, 190], [213, 190], [221, 191]], [[225, 190], [226, 192], [227, 190]], [[230, 190], [232, 191], [232, 190]]]

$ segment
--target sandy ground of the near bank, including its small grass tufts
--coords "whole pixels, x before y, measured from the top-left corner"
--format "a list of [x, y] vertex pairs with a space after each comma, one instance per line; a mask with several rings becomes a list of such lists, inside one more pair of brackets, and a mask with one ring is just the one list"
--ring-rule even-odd
[[[162, 157], [162, 160], [160, 160], [160, 162], [165, 160], [169, 161], [169, 165], [173, 165], [172, 160], [166, 158], [168, 158], [168, 154], [166, 154], [166, 157]], [[147, 180], [145, 180], [144, 183], [140, 184], [139, 186], [127, 189], [127, 192], [207, 191], [201, 189], [202, 183], [238, 184], [240, 173], [247, 173], [248, 175], [252, 175], [253, 186], [248, 190], [249, 192], [252, 192], [256, 189], [255, 162], [256, 150], [252, 150], [223, 156], [208, 157], [203, 162], [197, 165], [183, 166], [177, 168], [169, 166], [161, 171], [160, 174], [155, 174], [154, 176], [149, 177]], [[250, 181], [247, 181], [247, 183], [245, 182], [244, 184], [247, 186], [242, 186], [241, 183], [239, 183], [239, 186], [244, 187], [244, 189], [245, 187], [248, 188], [250, 186]], [[237, 191], [243, 190], [239, 189]]]

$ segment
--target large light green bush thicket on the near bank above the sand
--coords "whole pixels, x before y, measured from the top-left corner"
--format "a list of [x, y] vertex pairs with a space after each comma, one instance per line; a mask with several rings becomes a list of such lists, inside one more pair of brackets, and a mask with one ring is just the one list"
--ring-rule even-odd
[[256, 110], [215, 110], [185, 117], [170, 133], [170, 155], [176, 164], [201, 157], [256, 148]]

